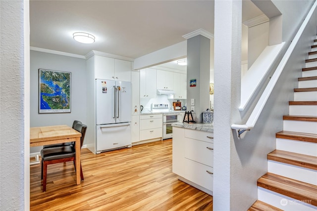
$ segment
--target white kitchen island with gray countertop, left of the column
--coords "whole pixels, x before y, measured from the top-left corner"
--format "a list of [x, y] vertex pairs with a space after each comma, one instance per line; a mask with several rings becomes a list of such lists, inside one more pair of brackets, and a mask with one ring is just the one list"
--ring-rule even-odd
[[173, 173], [179, 180], [213, 195], [213, 124], [172, 126]]

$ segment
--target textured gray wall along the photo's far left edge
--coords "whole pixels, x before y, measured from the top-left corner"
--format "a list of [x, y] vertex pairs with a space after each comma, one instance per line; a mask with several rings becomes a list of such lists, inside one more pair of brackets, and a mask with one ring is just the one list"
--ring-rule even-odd
[[[0, 210], [24, 210], [23, 1], [0, 1]], [[28, 190], [27, 190], [28, 191]]]

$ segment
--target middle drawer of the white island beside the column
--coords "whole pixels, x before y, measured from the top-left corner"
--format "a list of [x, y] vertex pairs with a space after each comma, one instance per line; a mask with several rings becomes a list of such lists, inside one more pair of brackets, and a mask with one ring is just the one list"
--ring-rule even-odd
[[185, 138], [185, 158], [213, 167], [213, 143]]

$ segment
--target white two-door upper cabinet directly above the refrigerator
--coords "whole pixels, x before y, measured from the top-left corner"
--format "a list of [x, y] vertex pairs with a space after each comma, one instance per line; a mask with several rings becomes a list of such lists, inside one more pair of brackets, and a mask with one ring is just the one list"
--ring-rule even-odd
[[131, 62], [95, 55], [96, 79], [131, 81]]

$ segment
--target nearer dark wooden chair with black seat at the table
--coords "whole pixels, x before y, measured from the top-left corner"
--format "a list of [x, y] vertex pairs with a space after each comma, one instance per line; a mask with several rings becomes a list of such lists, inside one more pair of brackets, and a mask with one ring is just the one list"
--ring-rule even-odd
[[[80, 147], [83, 146], [86, 129], [87, 126], [81, 123], [77, 123], [75, 128], [77, 131], [81, 132], [80, 138]], [[60, 147], [50, 147], [41, 150], [42, 156], [42, 171], [41, 171], [41, 179], [43, 179], [43, 192], [46, 191], [46, 181], [47, 181], [47, 168], [49, 164], [57, 164], [57, 163], [64, 163], [67, 161], [73, 161], [74, 164], [76, 162], [76, 152], [75, 146], [60, 146]], [[75, 165], [74, 165], [75, 166]], [[75, 168], [76, 170], [76, 168]], [[80, 164], [80, 178], [84, 180], [83, 170]]]

